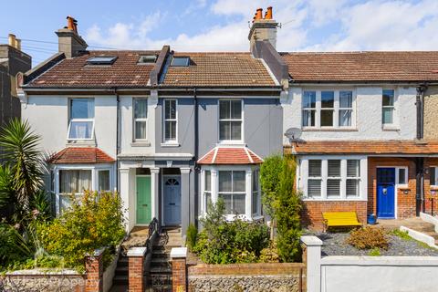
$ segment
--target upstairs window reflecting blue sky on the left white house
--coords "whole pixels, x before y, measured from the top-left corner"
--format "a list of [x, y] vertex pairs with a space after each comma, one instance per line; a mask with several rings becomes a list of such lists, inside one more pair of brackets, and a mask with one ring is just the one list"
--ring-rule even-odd
[[68, 140], [91, 140], [94, 133], [94, 99], [69, 99]]

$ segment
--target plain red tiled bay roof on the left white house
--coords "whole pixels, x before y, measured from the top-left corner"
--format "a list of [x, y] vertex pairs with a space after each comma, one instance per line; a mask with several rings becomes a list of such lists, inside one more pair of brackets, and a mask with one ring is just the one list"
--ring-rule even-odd
[[104, 151], [96, 147], [68, 147], [57, 152], [50, 159], [53, 164], [71, 163], [110, 163], [115, 162]]

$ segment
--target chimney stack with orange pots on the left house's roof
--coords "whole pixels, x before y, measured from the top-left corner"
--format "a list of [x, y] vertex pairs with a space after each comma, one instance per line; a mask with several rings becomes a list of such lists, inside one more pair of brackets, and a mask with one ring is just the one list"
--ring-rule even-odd
[[78, 35], [78, 21], [72, 16], [67, 16], [67, 26], [58, 29], [57, 46], [59, 53], [64, 53], [67, 58], [76, 57], [80, 51], [85, 51], [89, 45]]

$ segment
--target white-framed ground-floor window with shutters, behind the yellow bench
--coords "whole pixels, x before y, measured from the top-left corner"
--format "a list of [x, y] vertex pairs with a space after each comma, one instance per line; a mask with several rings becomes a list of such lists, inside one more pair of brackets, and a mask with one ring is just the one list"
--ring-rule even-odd
[[[302, 159], [300, 166], [300, 188], [305, 197], [317, 200], [360, 199], [366, 178], [360, 169], [366, 167], [366, 159], [327, 157]], [[366, 173], [365, 173], [366, 175]]]

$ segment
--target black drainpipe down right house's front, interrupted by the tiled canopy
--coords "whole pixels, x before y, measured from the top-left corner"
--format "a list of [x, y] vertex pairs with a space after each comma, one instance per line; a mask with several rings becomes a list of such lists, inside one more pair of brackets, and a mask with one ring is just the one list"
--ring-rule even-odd
[[[416, 108], [417, 108], [417, 141], [422, 141], [424, 138], [424, 92], [427, 89], [427, 84], [423, 83], [417, 87]], [[416, 171], [416, 194], [415, 194], [415, 214], [420, 215], [424, 212], [424, 159], [418, 157], [415, 159]]]

